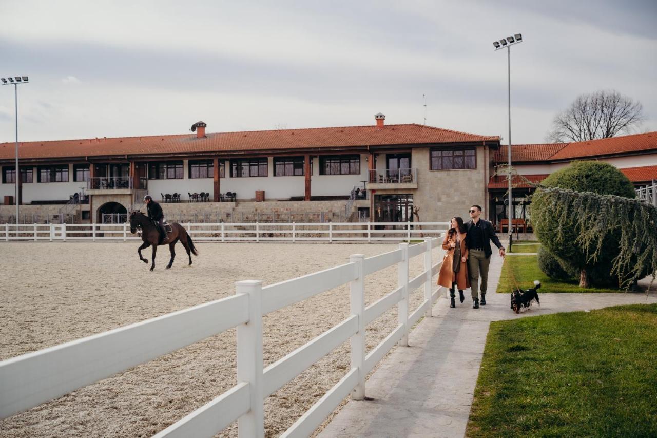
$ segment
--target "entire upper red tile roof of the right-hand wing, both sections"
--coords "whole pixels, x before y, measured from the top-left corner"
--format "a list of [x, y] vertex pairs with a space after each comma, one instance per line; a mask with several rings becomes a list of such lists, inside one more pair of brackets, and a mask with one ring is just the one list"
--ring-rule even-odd
[[[512, 145], [511, 162], [553, 162], [652, 150], [657, 150], [657, 132], [578, 141], [577, 143]], [[507, 162], [507, 154], [507, 146], [500, 146], [499, 151], [495, 153], [495, 161]]]

